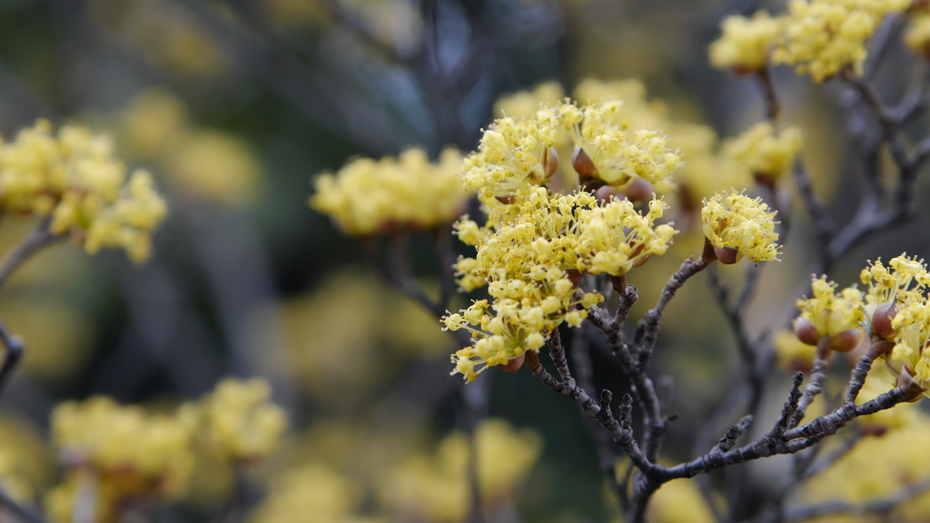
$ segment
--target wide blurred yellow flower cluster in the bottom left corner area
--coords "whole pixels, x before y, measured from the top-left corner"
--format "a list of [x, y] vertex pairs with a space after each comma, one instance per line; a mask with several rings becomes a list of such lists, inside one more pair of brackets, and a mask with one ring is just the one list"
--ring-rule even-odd
[[149, 414], [107, 397], [61, 404], [52, 413], [52, 439], [72, 469], [49, 494], [49, 512], [70, 521], [78, 486], [88, 482], [97, 492], [100, 521], [112, 520], [116, 505], [130, 499], [179, 496], [193, 465], [194, 422], [189, 409]]

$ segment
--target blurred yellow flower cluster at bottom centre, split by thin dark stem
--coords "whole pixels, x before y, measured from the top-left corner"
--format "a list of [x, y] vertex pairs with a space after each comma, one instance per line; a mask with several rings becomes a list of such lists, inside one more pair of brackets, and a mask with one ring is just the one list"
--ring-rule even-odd
[[[478, 490], [485, 517], [512, 501], [536, 463], [542, 440], [535, 432], [514, 430], [502, 420], [485, 420], [475, 430]], [[379, 497], [399, 520], [460, 523], [469, 513], [468, 436], [446, 436], [433, 455], [415, 455], [381, 478]]]

